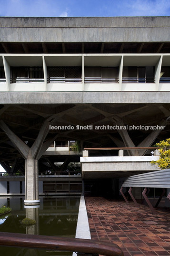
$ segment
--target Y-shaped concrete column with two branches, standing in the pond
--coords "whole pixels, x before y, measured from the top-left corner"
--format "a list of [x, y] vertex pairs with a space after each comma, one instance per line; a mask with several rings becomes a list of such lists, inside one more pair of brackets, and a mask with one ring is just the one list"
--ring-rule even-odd
[[38, 160], [42, 154], [48, 149], [51, 144], [50, 138], [44, 142], [48, 132], [50, 121], [53, 118], [49, 117], [44, 120], [38, 137], [34, 141], [32, 147], [28, 147], [10, 128], [0, 120], [0, 128], [7, 134], [8, 138], [12, 141], [13, 145], [20, 152], [20, 154], [25, 159], [25, 205], [36, 205], [40, 203], [39, 200], [39, 183], [38, 183]]

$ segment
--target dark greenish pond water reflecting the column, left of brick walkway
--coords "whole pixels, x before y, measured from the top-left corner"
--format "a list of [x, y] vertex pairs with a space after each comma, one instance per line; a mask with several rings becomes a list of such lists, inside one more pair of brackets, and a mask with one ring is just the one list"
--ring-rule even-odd
[[[75, 237], [80, 197], [47, 197], [40, 199], [40, 206], [28, 207], [24, 198], [0, 198], [0, 205], [8, 205], [12, 212], [0, 216], [0, 232], [30, 235], [56, 235]], [[34, 219], [36, 224], [25, 227], [21, 220]], [[0, 247], [0, 255], [10, 256], [71, 256], [71, 252], [55, 252], [37, 249]]]

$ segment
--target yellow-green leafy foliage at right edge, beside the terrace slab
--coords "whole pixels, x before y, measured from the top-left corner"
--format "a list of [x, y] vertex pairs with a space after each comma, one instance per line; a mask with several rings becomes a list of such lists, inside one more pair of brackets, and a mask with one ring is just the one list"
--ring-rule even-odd
[[170, 138], [156, 143], [156, 146], [160, 148], [158, 149], [160, 158], [157, 161], [151, 161], [151, 165], [156, 164], [162, 170], [170, 169]]

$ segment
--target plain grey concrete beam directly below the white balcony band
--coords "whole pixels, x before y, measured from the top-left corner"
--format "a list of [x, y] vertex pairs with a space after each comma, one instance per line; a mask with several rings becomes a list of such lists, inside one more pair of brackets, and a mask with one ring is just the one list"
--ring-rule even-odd
[[[20, 102], [19, 100], [20, 99]], [[170, 103], [170, 92], [0, 92], [1, 104]]]

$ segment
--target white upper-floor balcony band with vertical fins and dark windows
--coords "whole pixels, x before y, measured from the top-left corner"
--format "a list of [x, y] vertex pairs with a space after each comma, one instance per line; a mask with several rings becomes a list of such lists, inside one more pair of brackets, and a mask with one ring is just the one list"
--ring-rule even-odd
[[1, 54], [0, 91], [170, 91], [170, 54]]

